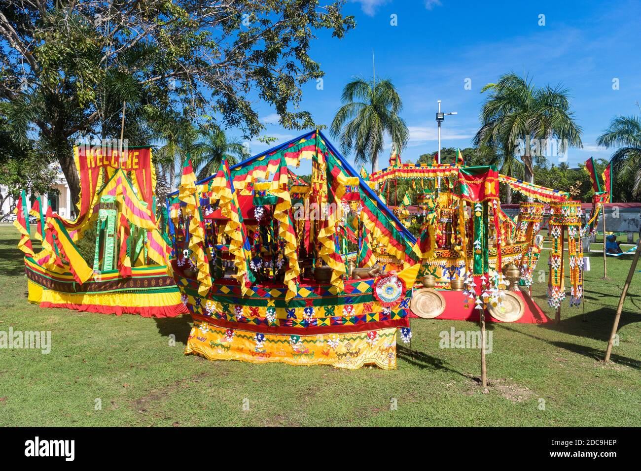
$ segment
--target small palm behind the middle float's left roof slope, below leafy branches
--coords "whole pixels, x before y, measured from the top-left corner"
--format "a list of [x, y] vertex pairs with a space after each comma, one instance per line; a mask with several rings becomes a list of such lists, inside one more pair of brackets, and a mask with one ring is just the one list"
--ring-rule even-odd
[[240, 139], [229, 139], [221, 128], [204, 126], [199, 130], [199, 140], [191, 152], [192, 161], [198, 172], [198, 179], [213, 174], [220, 167], [222, 160], [229, 165], [237, 158], [249, 157], [249, 150]]

